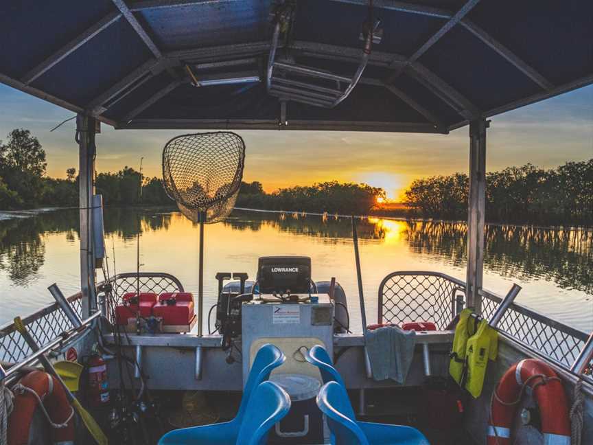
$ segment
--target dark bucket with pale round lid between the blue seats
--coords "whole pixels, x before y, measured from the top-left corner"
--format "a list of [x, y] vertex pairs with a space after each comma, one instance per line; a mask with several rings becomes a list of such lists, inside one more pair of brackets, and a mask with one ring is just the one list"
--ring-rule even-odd
[[323, 444], [323, 415], [315, 398], [321, 383], [303, 374], [274, 374], [270, 380], [290, 396], [290, 411], [270, 431], [269, 444]]

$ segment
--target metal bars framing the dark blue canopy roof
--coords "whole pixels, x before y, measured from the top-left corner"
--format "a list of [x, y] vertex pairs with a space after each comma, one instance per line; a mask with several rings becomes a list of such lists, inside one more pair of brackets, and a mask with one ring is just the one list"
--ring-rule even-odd
[[[76, 113], [87, 113], [100, 119], [106, 124], [110, 124], [115, 128], [148, 128], [154, 125], [154, 128], [229, 128], [229, 125], [251, 125], [249, 128], [284, 128], [284, 129], [333, 129], [342, 130], [348, 125], [352, 126], [352, 130], [379, 130], [383, 128], [385, 131], [423, 131], [427, 130], [429, 133], [448, 133], [450, 130], [466, 125], [473, 119], [491, 117], [504, 111], [518, 108], [526, 104], [531, 104], [539, 100], [550, 98], [554, 95], [570, 91], [587, 84], [593, 83], [593, 73], [586, 76], [566, 82], [563, 84], [553, 84], [546, 76], [537, 71], [535, 68], [528, 65], [522, 60], [520, 56], [513, 53], [511, 49], [503, 45], [486, 32], [482, 27], [477, 25], [472, 19], [469, 19], [469, 12], [471, 12], [480, 0], [468, 0], [461, 8], [456, 11], [447, 10], [444, 8], [435, 8], [429, 5], [422, 5], [417, 3], [410, 3], [407, 1], [395, 0], [375, 0], [374, 8], [380, 8], [386, 11], [395, 11], [406, 14], [415, 14], [418, 16], [427, 16], [443, 21], [436, 32], [433, 32], [428, 39], [423, 41], [412, 52], [410, 56], [403, 54], [395, 54], [391, 52], [373, 51], [369, 58], [369, 66], [381, 67], [388, 69], [388, 76], [386, 78], [373, 78], [366, 76], [362, 78], [361, 84], [371, 85], [373, 87], [384, 87], [386, 91], [390, 91], [396, 98], [410, 106], [419, 115], [426, 119], [428, 125], [423, 122], [416, 122], [412, 125], [411, 122], [352, 122], [348, 120], [325, 120], [325, 119], [311, 119], [303, 120], [290, 119], [290, 125], [286, 126], [286, 103], [280, 104], [278, 107], [278, 119], [276, 125], [270, 125], [269, 119], [143, 119], [141, 114], [150, 106], [165, 98], [179, 85], [188, 82], [188, 79], [180, 75], [179, 67], [183, 63], [195, 64], [200, 70], [226, 69], [240, 66], [240, 65], [258, 65], [258, 61], [266, 56], [270, 41], [254, 41], [251, 43], [236, 43], [226, 45], [214, 45], [209, 47], [183, 48], [163, 51], [155, 41], [151, 33], [145, 29], [145, 25], [141, 23], [138, 13], [154, 10], [165, 10], [170, 8], [187, 8], [200, 5], [225, 5], [236, 3], [238, 0], [139, 0], [139, 1], [124, 1], [111, 0], [113, 3], [113, 10], [105, 14], [100, 20], [90, 25], [86, 30], [71, 39], [68, 43], [47, 55], [43, 60], [37, 63], [32, 69], [25, 72], [18, 78], [10, 77], [5, 73], [0, 73], [0, 82], [10, 85], [16, 89], [21, 89], [27, 93], [35, 95], [58, 106], [62, 106]], [[486, 0], [482, 0], [484, 3]], [[329, 3], [336, 3], [338, 5], [358, 5], [367, 6], [368, 0], [327, 0]], [[272, 3], [272, 2], [270, 2]], [[96, 95], [95, 98], [84, 104], [74, 104], [69, 100], [58, 97], [55, 93], [49, 93], [36, 85], [36, 80], [39, 80], [45, 73], [60, 65], [65, 59], [82, 48], [86, 43], [97, 38], [103, 32], [108, 30], [114, 23], [121, 19], [125, 19], [132, 27], [134, 32], [139, 36], [144, 45], [150, 50], [152, 58], [146, 60], [141, 65], [130, 71], [126, 76], [111, 84], [108, 89]], [[498, 54], [506, 60], [516, 71], [522, 73], [526, 78], [537, 84], [542, 89], [535, 94], [520, 98], [493, 107], [491, 109], [480, 109], [469, 100], [463, 93], [454, 88], [451, 84], [443, 80], [437, 73], [434, 73], [426, 65], [419, 61], [423, 54], [426, 54], [429, 49], [434, 47], [445, 34], [450, 32], [454, 27], [463, 27], [472, 36], [475, 36], [485, 47], [488, 47], [493, 52]], [[313, 41], [290, 41], [288, 45], [279, 45], [279, 48], [291, 49], [299, 52], [303, 56], [316, 58], [321, 60], [334, 60], [336, 62], [355, 62], [360, 58], [360, 48], [330, 45], [327, 43], [318, 43]], [[261, 64], [260, 64], [261, 65]], [[152, 95], [146, 98], [141, 103], [136, 103], [128, 109], [124, 115], [117, 119], [108, 117], [105, 113], [110, 107], [115, 106], [124, 100], [130, 93], [143, 87], [151, 79], [161, 75], [163, 71], [168, 73], [170, 81], [163, 87], [152, 91]], [[445, 119], [439, 113], [435, 112], [430, 107], [421, 104], [414, 93], [406, 91], [406, 89], [399, 87], [397, 80], [399, 76], [406, 75], [421, 84], [426, 90], [430, 91], [435, 98], [450, 107], [454, 113], [462, 117], [458, 122], [453, 124], [445, 123]], [[212, 75], [216, 77], [215, 75]], [[232, 77], [232, 76], [231, 76]], [[261, 80], [261, 78], [260, 78]], [[285, 118], [283, 118], [283, 115]], [[289, 116], [290, 118], [290, 116]], [[247, 124], [248, 121], [253, 120]], [[156, 122], [159, 121], [159, 122]], [[255, 122], [255, 123], [254, 123]], [[297, 122], [299, 122], [297, 124]], [[279, 125], [279, 123], [281, 125]], [[217, 127], [217, 125], [219, 125]], [[430, 127], [430, 128], [428, 128]], [[235, 127], [237, 128], [237, 127]]]

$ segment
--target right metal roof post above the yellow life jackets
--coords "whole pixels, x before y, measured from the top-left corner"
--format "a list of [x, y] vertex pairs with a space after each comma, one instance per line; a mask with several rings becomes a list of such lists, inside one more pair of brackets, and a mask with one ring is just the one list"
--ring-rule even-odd
[[469, 194], [467, 204], [467, 307], [482, 312], [484, 229], [486, 211], [486, 128], [489, 121], [469, 122]]

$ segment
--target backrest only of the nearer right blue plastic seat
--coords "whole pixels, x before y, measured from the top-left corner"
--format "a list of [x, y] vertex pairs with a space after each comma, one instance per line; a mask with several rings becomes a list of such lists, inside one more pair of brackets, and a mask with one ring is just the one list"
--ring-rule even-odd
[[356, 423], [345, 387], [337, 382], [323, 385], [317, 396], [317, 406], [327, 416], [332, 444], [369, 445], [367, 436]]

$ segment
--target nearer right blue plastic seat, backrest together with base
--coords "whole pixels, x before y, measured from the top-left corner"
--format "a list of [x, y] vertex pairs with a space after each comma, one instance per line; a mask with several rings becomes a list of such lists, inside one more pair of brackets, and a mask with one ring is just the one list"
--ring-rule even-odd
[[321, 387], [317, 406], [327, 416], [334, 445], [430, 445], [411, 426], [358, 422], [345, 387], [337, 382]]

